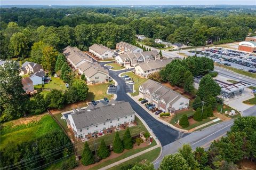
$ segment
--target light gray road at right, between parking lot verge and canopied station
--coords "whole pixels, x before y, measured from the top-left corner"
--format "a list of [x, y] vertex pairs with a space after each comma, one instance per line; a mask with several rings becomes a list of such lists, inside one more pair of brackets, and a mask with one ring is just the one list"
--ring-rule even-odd
[[236, 72], [230, 71], [228, 69], [225, 68], [221, 68], [218, 66], [214, 66], [214, 70], [217, 71], [219, 73], [219, 75], [224, 76], [224, 77], [228, 77], [231, 79], [235, 79], [235, 80], [239, 80], [239, 81], [243, 81], [245, 83], [249, 83], [252, 86], [256, 86], [256, 79], [255, 78], [251, 78], [248, 76], [244, 76], [241, 74], [237, 74]]

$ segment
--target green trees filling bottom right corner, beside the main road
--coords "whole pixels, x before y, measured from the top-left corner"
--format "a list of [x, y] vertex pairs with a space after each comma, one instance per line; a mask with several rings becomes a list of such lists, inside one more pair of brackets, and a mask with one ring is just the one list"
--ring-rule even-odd
[[243, 159], [255, 161], [256, 118], [240, 117], [228, 132], [227, 137], [212, 142], [210, 149], [196, 148], [192, 151], [185, 144], [178, 153], [167, 155], [159, 169], [238, 169], [236, 164]]

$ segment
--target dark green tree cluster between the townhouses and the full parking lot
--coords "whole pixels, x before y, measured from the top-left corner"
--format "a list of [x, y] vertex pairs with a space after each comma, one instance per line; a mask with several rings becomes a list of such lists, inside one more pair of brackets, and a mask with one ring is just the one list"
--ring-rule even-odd
[[165, 82], [184, 87], [185, 92], [193, 93], [193, 77], [205, 75], [213, 70], [213, 61], [206, 57], [189, 56], [183, 60], [173, 60], [160, 72]]

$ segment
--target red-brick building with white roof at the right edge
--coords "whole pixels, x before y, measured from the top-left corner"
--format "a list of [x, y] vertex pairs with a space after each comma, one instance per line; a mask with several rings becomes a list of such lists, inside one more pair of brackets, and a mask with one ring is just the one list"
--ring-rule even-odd
[[246, 37], [244, 42], [240, 42], [238, 50], [256, 53], [256, 36]]

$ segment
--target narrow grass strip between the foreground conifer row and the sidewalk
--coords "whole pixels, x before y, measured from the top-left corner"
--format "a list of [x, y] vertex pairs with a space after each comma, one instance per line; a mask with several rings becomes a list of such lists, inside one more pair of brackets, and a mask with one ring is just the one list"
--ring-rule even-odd
[[[107, 165], [113, 164], [113, 163], [115, 163], [115, 162], [118, 161], [118, 160], [121, 160], [121, 159], [127, 158], [127, 157], [129, 157], [129, 156], [132, 156], [132, 155], [134, 155], [135, 153], [138, 153], [138, 152], [141, 152], [141, 151], [143, 151], [143, 150], [146, 150], [146, 149], [148, 149], [148, 148], [150, 148], [150, 147], [153, 147], [154, 145], [156, 145], [156, 141], [155, 141], [155, 140], [152, 142], [151, 145], [148, 145], [148, 146], [145, 147], [145, 148], [130, 149], [129, 151], [123, 153], [121, 156], [119, 156], [119, 157], [117, 157], [117, 158], [114, 158], [114, 159], [107, 160], [107, 161], [105, 161], [105, 162], [102, 162], [101, 164], [90, 168], [90, 170], [97, 170], [97, 169], [99, 169], [99, 168], [102, 168], [102, 167], [105, 167], [105, 166], [107, 166]], [[156, 148], [156, 149], [157, 149], [157, 148]], [[145, 153], [145, 154], [148, 154], [148, 153]], [[151, 154], [152, 154], [152, 153], [151, 153]], [[159, 155], [159, 153], [158, 153], [158, 155]], [[158, 156], [158, 155], [157, 155], [157, 156]], [[143, 160], [143, 157], [137, 157], [137, 158]], [[137, 158], [135, 158], [135, 159], [137, 159]], [[138, 160], [139, 160], [139, 159], [138, 159]], [[132, 160], [132, 159], [131, 159], [131, 160]]]

